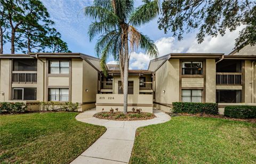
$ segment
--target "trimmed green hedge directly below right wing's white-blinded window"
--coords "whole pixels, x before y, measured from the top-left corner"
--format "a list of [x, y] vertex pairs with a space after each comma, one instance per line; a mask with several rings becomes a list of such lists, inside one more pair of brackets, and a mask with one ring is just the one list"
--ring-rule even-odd
[[190, 103], [190, 102], [173, 102], [173, 113], [205, 113], [218, 114], [217, 103]]

